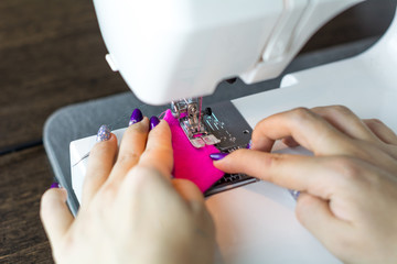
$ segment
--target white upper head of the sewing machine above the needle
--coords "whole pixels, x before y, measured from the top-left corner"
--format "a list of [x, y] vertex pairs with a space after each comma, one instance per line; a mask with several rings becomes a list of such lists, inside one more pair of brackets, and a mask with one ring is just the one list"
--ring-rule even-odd
[[309, 37], [362, 0], [94, 0], [107, 61], [149, 105], [279, 76]]

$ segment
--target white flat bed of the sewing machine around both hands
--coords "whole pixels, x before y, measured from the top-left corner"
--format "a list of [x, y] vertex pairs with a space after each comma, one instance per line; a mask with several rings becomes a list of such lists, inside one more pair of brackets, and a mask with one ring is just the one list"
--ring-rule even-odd
[[[291, 108], [344, 105], [361, 118], [383, 120], [397, 132], [396, 68], [395, 20], [387, 34], [364, 54], [287, 75], [281, 88], [232, 102], [251, 128], [262, 118]], [[122, 130], [115, 133], [120, 139]], [[71, 164], [94, 144], [95, 136], [72, 142]], [[282, 151], [308, 154], [301, 148]], [[72, 167], [78, 199], [85, 169], [86, 161]], [[298, 222], [296, 201], [287, 189], [258, 182], [211, 196], [206, 205], [216, 224], [219, 253], [227, 263], [341, 263]]]

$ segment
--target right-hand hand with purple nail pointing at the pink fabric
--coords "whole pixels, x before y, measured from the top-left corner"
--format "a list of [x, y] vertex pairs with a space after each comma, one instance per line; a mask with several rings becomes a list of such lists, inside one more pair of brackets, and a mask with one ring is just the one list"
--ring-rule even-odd
[[[270, 154], [275, 141], [314, 156]], [[346, 263], [397, 263], [397, 136], [345, 107], [294, 109], [262, 120], [253, 150], [215, 166], [300, 190], [297, 217]]]

